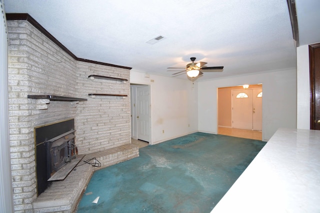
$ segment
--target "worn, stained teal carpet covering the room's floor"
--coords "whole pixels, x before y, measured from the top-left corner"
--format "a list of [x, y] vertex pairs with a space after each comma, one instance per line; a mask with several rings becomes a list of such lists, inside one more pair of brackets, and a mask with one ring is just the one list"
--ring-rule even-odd
[[93, 174], [77, 213], [209, 213], [264, 145], [198, 132], [141, 148]]

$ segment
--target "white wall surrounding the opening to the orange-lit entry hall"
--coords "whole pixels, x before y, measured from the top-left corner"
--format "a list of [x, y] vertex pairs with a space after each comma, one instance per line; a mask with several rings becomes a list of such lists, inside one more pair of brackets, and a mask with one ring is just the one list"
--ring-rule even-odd
[[279, 127], [296, 128], [295, 69], [201, 81], [198, 83], [198, 130], [217, 133], [217, 88], [262, 83], [262, 140]]

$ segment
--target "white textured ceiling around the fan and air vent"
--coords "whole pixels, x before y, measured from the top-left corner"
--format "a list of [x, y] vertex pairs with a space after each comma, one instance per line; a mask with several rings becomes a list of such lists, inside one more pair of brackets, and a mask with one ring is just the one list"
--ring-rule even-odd
[[[286, 0], [4, 0], [4, 4], [7, 13], [31, 15], [78, 58], [150, 74], [171, 76], [166, 67], [184, 67], [190, 57], [207, 66], [224, 66], [223, 72], [206, 72], [198, 81], [296, 66]], [[158, 35], [165, 38], [146, 43]], [[300, 37], [303, 43], [310, 40]]]

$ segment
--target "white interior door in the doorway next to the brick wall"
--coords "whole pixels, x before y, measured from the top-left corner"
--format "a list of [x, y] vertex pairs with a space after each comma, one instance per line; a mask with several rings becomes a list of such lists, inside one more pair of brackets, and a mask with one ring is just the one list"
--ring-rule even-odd
[[150, 104], [149, 87], [137, 87], [137, 121], [138, 139], [149, 142], [150, 138]]

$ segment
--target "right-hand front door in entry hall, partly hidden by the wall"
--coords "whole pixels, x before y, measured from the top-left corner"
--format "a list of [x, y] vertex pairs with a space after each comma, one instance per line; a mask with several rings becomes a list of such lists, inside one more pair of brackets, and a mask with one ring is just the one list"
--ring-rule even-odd
[[257, 131], [262, 130], [262, 96], [258, 97], [258, 94], [260, 92], [262, 92], [262, 88], [252, 90], [252, 101], [253, 101], [252, 126], [253, 126], [253, 130], [257, 130]]

